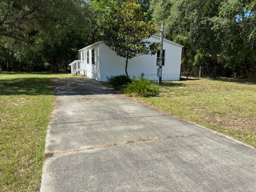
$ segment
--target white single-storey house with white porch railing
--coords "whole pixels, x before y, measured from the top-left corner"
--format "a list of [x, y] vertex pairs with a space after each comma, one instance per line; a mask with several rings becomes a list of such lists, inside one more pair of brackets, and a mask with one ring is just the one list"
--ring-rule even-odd
[[[160, 37], [153, 35], [151, 42], [160, 42]], [[162, 80], [180, 80], [182, 45], [164, 39]], [[128, 75], [143, 76], [151, 80], [157, 77], [157, 56], [140, 55], [128, 62]], [[70, 64], [71, 72], [80, 73], [97, 81], [106, 81], [107, 77], [125, 74], [125, 58], [116, 55], [103, 41], [78, 50], [78, 60]]]

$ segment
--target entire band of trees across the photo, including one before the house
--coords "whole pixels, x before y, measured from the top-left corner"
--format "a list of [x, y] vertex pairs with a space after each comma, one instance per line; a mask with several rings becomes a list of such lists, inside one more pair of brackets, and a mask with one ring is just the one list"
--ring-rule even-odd
[[2, 0], [0, 70], [67, 68], [79, 48], [103, 39], [127, 68], [141, 50], [150, 54], [141, 41], [163, 22], [164, 37], [184, 45], [183, 71], [256, 77], [255, 21], [256, 0]]

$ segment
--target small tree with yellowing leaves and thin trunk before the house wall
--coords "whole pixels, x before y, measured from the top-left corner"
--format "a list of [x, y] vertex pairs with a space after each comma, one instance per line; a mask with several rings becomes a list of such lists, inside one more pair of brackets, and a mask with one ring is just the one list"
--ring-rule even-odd
[[146, 21], [147, 13], [140, 4], [128, 0], [109, 13], [104, 25], [104, 42], [116, 55], [126, 58], [125, 73], [128, 77], [128, 60], [143, 54], [156, 54], [160, 43], [147, 39], [156, 32], [156, 25]]

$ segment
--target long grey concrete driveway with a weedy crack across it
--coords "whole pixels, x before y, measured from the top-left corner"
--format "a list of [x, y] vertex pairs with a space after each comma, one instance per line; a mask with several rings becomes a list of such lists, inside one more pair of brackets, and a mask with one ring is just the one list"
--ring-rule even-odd
[[256, 150], [122, 97], [54, 81], [40, 192], [255, 192]]

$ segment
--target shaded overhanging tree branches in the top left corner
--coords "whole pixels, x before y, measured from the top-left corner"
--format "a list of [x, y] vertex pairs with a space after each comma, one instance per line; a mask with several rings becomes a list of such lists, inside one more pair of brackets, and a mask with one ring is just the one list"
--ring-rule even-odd
[[[74, 9], [69, 0], [3, 0], [0, 2], [0, 36], [25, 41], [38, 30], [66, 20]], [[54, 23], [54, 25], [53, 25]]]

